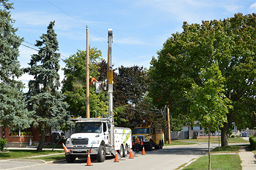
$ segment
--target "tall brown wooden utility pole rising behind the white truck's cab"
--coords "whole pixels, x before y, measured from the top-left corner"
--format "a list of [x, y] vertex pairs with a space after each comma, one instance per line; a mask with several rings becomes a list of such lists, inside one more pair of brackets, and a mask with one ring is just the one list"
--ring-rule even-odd
[[90, 118], [89, 30], [86, 26], [86, 118]]

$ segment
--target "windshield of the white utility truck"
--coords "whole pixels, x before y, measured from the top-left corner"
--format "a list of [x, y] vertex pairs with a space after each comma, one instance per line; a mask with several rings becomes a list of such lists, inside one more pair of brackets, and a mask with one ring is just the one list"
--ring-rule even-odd
[[75, 123], [74, 133], [101, 133], [101, 122]]

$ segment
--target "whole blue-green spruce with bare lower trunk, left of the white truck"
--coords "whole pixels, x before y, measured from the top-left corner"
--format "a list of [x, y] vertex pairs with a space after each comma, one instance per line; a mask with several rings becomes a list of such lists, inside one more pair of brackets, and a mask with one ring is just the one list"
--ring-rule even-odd
[[25, 69], [25, 72], [34, 76], [34, 80], [29, 81], [27, 98], [29, 108], [34, 111], [34, 125], [40, 127], [39, 152], [44, 146], [48, 128], [65, 129], [70, 124], [66, 110], [68, 104], [63, 101], [65, 96], [57, 91], [60, 86], [60, 54], [56, 53], [59, 46], [53, 27], [54, 22], [50, 22], [47, 33], [40, 37], [42, 41], [36, 41], [39, 52], [31, 56], [30, 67]]

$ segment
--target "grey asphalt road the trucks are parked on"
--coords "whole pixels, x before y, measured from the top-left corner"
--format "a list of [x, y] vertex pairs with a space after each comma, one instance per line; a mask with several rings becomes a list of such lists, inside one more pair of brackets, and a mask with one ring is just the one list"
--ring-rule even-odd
[[[211, 148], [217, 147], [218, 144], [211, 144]], [[15, 166], [15, 161], [12, 161], [12, 167], [4, 167], [0, 162], [0, 167], [4, 170], [11, 169], [30, 169], [30, 170], [41, 170], [41, 169], [176, 169], [184, 163], [191, 162], [192, 159], [198, 158], [205, 154], [208, 150], [207, 144], [197, 145], [179, 145], [164, 147], [163, 149], [153, 149], [152, 151], [146, 151], [146, 155], [136, 153], [134, 159], [129, 159], [129, 154], [125, 160], [119, 159], [119, 162], [114, 162], [115, 157], [106, 157], [106, 161], [98, 163], [92, 160], [92, 166], [86, 166], [87, 159], [76, 160], [74, 163], [57, 162], [57, 163], [41, 163], [41, 164], [30, 164], [27, 162], [26, 166], [21, 164]], [[17, 162], [18, 163], [18, 162]], [[0, 168], [0, 169], [1, 169]]]

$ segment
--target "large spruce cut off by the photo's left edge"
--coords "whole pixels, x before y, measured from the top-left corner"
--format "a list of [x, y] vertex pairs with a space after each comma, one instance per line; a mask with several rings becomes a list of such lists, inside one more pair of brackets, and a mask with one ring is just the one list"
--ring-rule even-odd
[[8, 11], [13, 9], [13, 3], [7, 2], [0, 0], [0, 126], [22, 130], [31, 124], [22, 92], [24, 85], [17, 80], [23, 74], [18, 61], [18, 48], [23, 38], [15, 34], [15, 21]]

